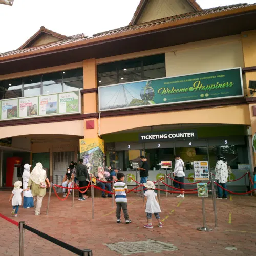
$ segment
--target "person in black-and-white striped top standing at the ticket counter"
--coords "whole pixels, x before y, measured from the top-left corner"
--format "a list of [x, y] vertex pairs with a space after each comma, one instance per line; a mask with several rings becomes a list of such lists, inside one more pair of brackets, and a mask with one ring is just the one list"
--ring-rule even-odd
[[[181, 190], [181, 193], [177, 197], [184, 197], [184, 177], [185, 177], [185, 164], [180, 156], [175, 156], [175, 168], [174, 168], [174, 186]], [[178, 183], [178, 182], [180, 183]]]

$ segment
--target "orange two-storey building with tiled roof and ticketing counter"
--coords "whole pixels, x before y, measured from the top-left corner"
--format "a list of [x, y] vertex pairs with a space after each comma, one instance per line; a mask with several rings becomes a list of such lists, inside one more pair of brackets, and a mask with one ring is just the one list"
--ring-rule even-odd
[[255, 14], [256, 5], [151, 0], [129, 26], [91, 38], [41, 27], [0, 55], [0, 186], [38, 161], [58, 183], [82, 138], [102, 138], [106, 164], [124, 171], [145, 155], [152, 179], [175, 154], [188, 175], [191, 162], [214, 168], [220, 153], [233, 175], [252, 169]]

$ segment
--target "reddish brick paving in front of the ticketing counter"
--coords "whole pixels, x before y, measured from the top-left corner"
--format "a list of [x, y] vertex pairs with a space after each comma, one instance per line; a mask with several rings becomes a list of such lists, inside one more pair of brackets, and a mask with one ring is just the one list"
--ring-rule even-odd
[[[91, 219], [92, 200], [81, 202], [77, 198], [72, 207], [72, 198], [62, 202], [52, 194], [49, 215], [46, 215], [47, 196], [44, 198], [42, 213], [35, 216], [33, 209], [20, 209], [17, 218], [11, 217], [10, 191], [0, 192], [0, 212], [16, 221], [49, 234], [79, 249], [89, 248], [93, 255], [121, 255], [105, 244], [155, 240], [173, 244], [176, 251], [160, 253], [146, 252], [132, 255], [234, 255], [256, 254], [256, 198], [232, 196], [232, 200], [218, 200], [218, 227], [214, 227], [211, 198], [206, 198], [206, 222], [211, 232], [201, 232], [201, 198], [187, 195], [184, 199], [161, 195], [161, 218], [163, 228], [143, 228], [145, 213], [142, 199], [137, 194], [129, 194], [129, 214], [132, 223], [116, 224], [115, 209], [111, 208], [111, 198], [95, 198], [95, 218]], [[231, 223], [229, 216], [231, 214]], [[153, 219], [153, 225], [156, 221]], [[17, 226], [0, 218], [0, 255], [18, 255], [19, 233]], [[229, 231], [227, 231], [229, 230]], [[120, 235], [122, 234], [122, 235]], [[227, 250], [225, 248], [237, 248]], [[25, 231], [25, 255], [74, 255], [29, 231]]]

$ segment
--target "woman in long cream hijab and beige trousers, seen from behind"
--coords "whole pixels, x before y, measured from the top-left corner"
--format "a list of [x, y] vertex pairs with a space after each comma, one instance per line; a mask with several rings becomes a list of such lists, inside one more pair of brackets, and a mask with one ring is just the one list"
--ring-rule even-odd
[[27, 191], [31, 188], [34, 203], [36, 201], [35, 215], [40, 214], [42, 199], [46, 194], [46, 181], [49, 184], [49, 180], [46, 178], [46, 171], [42, 168], [41, 163], [37, 163], [30, 174], [27, 188]]

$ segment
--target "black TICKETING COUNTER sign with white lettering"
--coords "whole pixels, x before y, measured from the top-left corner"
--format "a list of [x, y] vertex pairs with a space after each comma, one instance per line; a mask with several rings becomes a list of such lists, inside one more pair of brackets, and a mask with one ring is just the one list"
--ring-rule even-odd
[[139, 142], [176, 141], [198, 139], [196, 130], [139, 134]]

